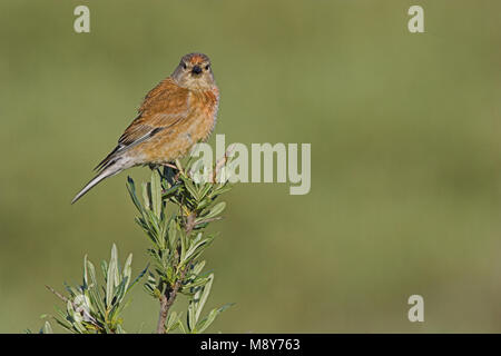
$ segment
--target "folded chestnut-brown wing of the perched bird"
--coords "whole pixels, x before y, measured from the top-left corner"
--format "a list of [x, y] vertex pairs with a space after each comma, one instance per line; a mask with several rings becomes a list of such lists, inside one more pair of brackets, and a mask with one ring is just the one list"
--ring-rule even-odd
[[179, 88], [170, 78], [151, 89], [143, 101], [136, 119], [118, 139], [118, 146], [96, 167], [105, 168], [112, 158], [139, 145], [161, 130], [173, 127], [188, 117], [189, 91]]

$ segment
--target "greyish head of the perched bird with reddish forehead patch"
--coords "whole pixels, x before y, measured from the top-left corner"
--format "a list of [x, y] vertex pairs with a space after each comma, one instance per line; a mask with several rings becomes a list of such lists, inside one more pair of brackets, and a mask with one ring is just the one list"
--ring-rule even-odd
[[208, 90], [215, 86], [210, 59], [203, 53], [183, 56], [171, 77], [179, 87], [191, 90]]

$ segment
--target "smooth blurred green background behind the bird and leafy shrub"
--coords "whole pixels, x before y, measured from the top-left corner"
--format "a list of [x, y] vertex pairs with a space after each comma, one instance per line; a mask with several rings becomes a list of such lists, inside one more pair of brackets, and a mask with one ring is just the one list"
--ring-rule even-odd
[[[78, 4], [90, 33], [73, 31]], [[125, 182], [148, 169], [69, 202], [191, 51], [213, 60], [227, 144], [312, 144], [308, 195], [227, 195], [208, 307], [236, 305], [210, 332], [501, 332], [500, 13], [497, 0], [1, 1], [0, 332], [38, 330], [59, 303], [45, 285], [80, 283], [85, 254], [99, 263], [115, 241], [144, 268]], [[424, 323], [407, 319], [413, 294]], [[126, 329], [154, 330], [157, 304], [132, 297]]]

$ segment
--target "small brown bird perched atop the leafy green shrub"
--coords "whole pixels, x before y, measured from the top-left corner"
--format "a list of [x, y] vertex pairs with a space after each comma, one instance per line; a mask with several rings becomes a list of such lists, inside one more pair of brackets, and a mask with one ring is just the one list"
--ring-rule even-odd
[[206, 141], [219, 108], [210, 59], [204, 53], [181, 57], [174, 72], [153, 88], [118, 145], [95, 168], [97, 175], [75, 196], [75, 204], [104, 179], [136, 166], [168, 166]]

